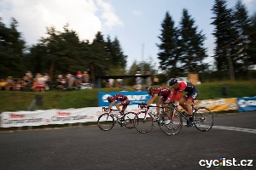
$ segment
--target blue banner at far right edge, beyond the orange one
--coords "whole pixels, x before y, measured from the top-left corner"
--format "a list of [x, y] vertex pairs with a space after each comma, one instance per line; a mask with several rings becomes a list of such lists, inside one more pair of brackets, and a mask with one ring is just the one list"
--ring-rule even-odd
[[237, 98], [238, 111], [256, 111], [256, 97]]

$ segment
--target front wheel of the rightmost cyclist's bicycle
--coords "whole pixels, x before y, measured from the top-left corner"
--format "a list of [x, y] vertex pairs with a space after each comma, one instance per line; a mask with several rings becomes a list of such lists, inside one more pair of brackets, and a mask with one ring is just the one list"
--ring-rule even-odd
[[172, 111], [171, 114], [171, 122], [166, 124], [166, 120], [168, 119], [168, 116], [165, 113], [161, 114], [160, 116], [160, 122], [158, 125], [160, 126], [160, 129], [163, 131], [163, 133], [166, 133], [167, 135], [174, 135], [179, 133], [179, 131], [183, 127], [183, 119], [182, 116], [177, 113], [176, 111]]

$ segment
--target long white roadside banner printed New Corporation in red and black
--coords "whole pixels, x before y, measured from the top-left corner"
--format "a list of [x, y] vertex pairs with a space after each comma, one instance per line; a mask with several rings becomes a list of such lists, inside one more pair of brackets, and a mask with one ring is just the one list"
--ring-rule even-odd
[[[137, 112], [137, 105], [129, 105], [127, 111]], [[0, 127], [30, 127], [49, 124], [97, 122], [98, 117], [102, 115], [102, 113], [102, 107], [67, 110], [3, 112], [1, 114]]]

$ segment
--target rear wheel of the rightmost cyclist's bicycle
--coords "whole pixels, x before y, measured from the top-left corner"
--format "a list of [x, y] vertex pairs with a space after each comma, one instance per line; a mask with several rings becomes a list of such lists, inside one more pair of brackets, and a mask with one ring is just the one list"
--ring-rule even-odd
[[212, 112], [206, 107], [200, 107], [194, 112], [195, 127], [201, 132], [207, 132], [213, 126]]

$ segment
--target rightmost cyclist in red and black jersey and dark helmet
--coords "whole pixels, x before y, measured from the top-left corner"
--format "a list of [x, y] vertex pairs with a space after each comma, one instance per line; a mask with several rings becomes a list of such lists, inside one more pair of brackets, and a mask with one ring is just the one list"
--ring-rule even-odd
[[[169, 82], [169, 86], [174, 88], [171, 102], [174, 102], [176, 105], [181, 105], [185, 111], [188, 111], [189, 121], [187, 121], [186, 127], [192, 127], [194, 120], [191, 105], [193, 104], [195, 98], [199, 95], [198, 89], [195, 88], [195, 85], [193, 85], [191, 82], [177, 82], [177, 78], [172, 78]], [[187, 94], [181, 98], [183, 92], [187, 92]]]

